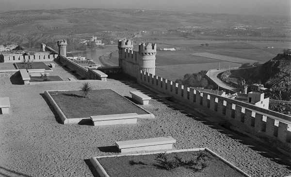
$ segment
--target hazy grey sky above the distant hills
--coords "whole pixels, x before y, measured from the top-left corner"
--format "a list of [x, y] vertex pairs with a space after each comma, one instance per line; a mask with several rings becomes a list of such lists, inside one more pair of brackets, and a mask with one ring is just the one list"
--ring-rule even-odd
[[71, 7], [291, 16], [291, 0], [0, 0], [0, 11]]

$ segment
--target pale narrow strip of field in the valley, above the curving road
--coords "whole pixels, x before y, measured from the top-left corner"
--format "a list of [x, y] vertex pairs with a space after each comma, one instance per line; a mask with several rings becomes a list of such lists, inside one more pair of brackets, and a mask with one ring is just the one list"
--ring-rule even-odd
[[229, 56], [225, 56], [225, 55], [217, 55], [217, 54], [208, 53], [208, 52], [197, 52], [197, 53], [193, 53], [191, 55], [211, 58], [211, 59], [225, 61], [225, 62], [237, 63], [237, 64], [244, 64], [244, 63], [251, 63], [252, 64], [252, 63], [258, 62], [256, 60], [246, 60], [243, 58], [229, 57]]

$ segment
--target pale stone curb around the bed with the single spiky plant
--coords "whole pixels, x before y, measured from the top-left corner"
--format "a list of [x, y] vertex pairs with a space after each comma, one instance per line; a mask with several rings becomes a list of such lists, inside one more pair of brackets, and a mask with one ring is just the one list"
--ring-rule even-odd
[[[82, 81], [82, 80], [78, 80], [78, 81]], [[60, 81], [58, 81], [58, 82], [60, 82]], [[104, 90], [104, 89], [99, 89], [99, 90]], [[112, 90], [112, 89], [107, 89], [107, 90]], [[45, 96], [49, 99], [50, 104], [56, 110], [56, 112], [60, 116], [62, 122], [64, 124], [78, 124], [82, 119], [90, 119], [90, 117], [70, 118], [70, 119], [68, 119], [65, 116], [65, 114], [62, 112], [62, 110], [60, 109], [60, 107], [57, 105], [57, 103], [54, 101], [54, 99], [49, 94], [49, 92], [63, 92], [63, 91], [80, 91], [80, 90], [48, 90], [48, 91], [45, 91]], [[114, 90], [112, 90], [112, 91], [115, 92]], [[115, 93], [118, 94], [117, 92], [115, 92]], [[120, 94], [118, 94], [118, 95], [121, 96], [121, 97], [123, 97]], [[126, 98], [126, 97], [124, 97], [124, 98]], [[126, 98], [126, 99], [129, 100], [128, 98]], [[132, 101], [130, 101], [130, 102], [147, 113], [147, 114], [138, 114], [137, 118], [145, 118], [145, 119], [154, 119], [155, 118], [155, 115], [154, 114], [146, 111], [145, 109], [143, 109], [139, 105], [135, 104], [134, 102], [132, 102]]]

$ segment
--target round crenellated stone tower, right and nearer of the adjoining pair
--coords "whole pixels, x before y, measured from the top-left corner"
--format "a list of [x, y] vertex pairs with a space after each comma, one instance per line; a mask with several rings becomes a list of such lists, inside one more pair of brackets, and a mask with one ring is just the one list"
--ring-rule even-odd
[[138, 53], [140, 55], [139, 69], [155, 75], [157, 45], [155, 43], [141, 43]]

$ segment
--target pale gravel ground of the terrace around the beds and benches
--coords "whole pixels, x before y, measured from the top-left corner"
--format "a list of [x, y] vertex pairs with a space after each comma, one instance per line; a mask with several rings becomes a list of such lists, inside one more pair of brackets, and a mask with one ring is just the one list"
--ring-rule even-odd
[[[262, 156], [250, 145], [195, 120], [199, 113], [190, 116], [156, 97], [141, 106], [156, 119], [138, 120], [136, 125], [63, 125], [58, 123], [44, 91], [79, 89], [81, 80], [12, 85], [7, 74], [0, 74], [0, 83], [0, 97], [9, 97], [11, 103], [10, 114], [0, 115], [0, 176], [93, 177], [96, 172], [89, 159], [116, 154], [104, 151], [105, 146], [160, 136], [175, 138], [175, 149], [209, 147], [254, 177], [291, 175], [286, 166]], [[90, 83], [94, 89], [113, 89], [122, 96], [131, 97], [129, 91], [136, 91], [118, 80]]]

